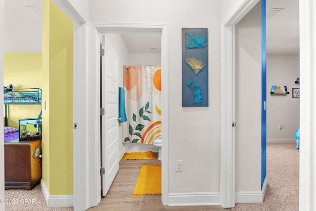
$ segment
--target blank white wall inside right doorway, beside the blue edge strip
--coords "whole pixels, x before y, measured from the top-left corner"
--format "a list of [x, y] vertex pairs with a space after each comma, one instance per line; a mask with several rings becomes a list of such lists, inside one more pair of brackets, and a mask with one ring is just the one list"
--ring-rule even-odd
[[261, 3], [236, 25], [236, 192], [261, 190]]

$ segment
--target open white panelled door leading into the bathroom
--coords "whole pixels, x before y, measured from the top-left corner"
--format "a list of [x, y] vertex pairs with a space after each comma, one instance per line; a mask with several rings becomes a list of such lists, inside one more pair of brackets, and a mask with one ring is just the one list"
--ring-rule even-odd
[[118, 55], [105, 35], [102, 35], [101, 117], [102, 133], [102, 195], [105, 196], [118, 173]]

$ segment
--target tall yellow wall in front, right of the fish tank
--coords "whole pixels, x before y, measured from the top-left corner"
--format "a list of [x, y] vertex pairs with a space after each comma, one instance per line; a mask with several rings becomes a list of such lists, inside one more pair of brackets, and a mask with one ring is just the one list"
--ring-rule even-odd
[[73, 22], [43, 0], [42, 181], [49, 195], [73, 195]]

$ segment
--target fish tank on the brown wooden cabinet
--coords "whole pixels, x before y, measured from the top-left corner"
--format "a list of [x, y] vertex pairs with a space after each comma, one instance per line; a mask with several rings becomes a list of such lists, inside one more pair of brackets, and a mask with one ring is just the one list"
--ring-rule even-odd
[[41, 139], [41, 118], [19, 119], [19, 141]]

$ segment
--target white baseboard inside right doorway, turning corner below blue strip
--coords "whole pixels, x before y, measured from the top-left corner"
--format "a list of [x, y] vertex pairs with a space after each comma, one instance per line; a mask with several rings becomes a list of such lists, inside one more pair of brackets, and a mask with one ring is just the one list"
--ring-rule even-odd
[[266, 176], [261, 191], [237, 191], [235, 203], [262, 203], [265, 198], [268, 186], [268, 176]]

